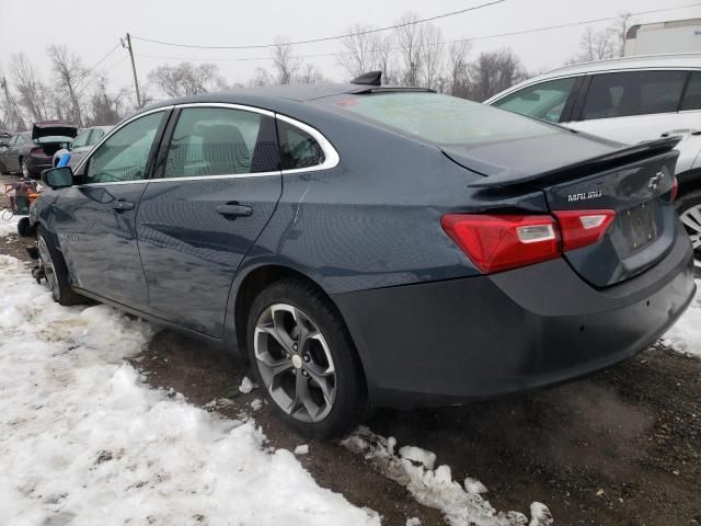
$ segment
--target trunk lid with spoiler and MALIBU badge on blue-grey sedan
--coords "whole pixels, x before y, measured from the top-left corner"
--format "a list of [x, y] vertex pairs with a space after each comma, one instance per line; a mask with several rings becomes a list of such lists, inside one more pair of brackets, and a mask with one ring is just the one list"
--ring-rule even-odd
[[[475, 161], [468, 148], [445, 152], [459, 164], [486, 175], [470, 184], [485, 193], [540, 190], [553, 211], [614, 210], [616, 217], [599, 241], [564, 253], [585, 281], [607, 287], [644, 272], [671, 249], [678, 233], [670, 203], [678, 156], [673, 148], [678, 138], [627, 148], [574, 135], [570, 139], [578, 146], [574, 153], [574, 144], [567, 138], [552, 149], [537, 138], [519, 140], [525, 144], [514, 148], [502, 144], [502, 157], [494, 155], [496, 150], [478, 147]], [[551, 140], [543, 142], [553, 146]], [[504, 151], [508, 151], [507, 157]]]

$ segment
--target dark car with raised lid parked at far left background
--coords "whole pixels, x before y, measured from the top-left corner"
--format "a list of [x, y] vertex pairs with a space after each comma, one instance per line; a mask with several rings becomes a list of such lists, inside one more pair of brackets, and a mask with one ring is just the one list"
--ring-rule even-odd
[[61, 144], [70, 142], [76, 135], [78, 127], [65, 121], [35, 123], [32, 132], [15, 134], [0, 151], [0, 171], [39, 179], [43, 170], [54, 167], [53, 157]]

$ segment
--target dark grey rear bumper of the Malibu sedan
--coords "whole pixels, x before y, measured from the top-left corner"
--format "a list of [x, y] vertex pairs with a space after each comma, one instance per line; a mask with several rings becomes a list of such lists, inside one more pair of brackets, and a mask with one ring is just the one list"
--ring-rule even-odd
[[335, 295], [375, 403], [459, 403], [563, 382], [644, 350], [693, 298], [689, 240], [597, 290], [560, 259], [492, 276]]

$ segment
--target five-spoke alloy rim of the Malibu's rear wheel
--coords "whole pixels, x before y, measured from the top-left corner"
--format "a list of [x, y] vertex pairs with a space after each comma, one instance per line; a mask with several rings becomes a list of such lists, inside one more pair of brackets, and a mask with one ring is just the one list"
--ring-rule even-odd
[[325, 419], [336, 397], [336, 371], [326, 340], [298, 308], [275, 304], [258, 317], [254, 332], [256, 366], [275, 403], [291, 418]]

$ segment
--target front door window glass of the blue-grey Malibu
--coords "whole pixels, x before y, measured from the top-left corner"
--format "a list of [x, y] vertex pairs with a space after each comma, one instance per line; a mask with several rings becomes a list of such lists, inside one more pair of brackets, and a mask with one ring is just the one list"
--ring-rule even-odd
[[152, 113], [116, 132], [90, 157], [84, 182], [114, 183], [143, 179], [162, 118], [163, 112]]

